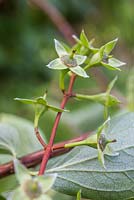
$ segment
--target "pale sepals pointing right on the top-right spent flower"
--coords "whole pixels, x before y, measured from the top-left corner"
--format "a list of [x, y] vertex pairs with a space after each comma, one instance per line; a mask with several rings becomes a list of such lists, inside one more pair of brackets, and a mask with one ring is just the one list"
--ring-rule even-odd
[[108, 69], [121, 71], [119, 67], [125, 65], [126, 63], [121, 62], [116, 58], [109, 58], [108, 63], [101, 62], [101, 64]]

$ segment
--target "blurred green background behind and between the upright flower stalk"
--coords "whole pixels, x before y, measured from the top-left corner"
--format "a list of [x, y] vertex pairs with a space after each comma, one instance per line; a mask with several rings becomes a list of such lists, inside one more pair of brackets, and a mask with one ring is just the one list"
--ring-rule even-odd
[[[123, 96], [123, 102], [124, 99], [129, 101], [128, 96], [132, 96], [132, 91], [129, 90], [128, 79], [130, 75], [131, 79], [134, 77], [134, 1], [50, 0], [49, 3], [60, 11], [78, 35], [84, 29], [89, 39], [95, 38], [96, 47], [119, 38], [113, 54], [127, 64], [122, 72], [118, 73], [116, 88], [121, 99]], [[58, 72], [46, 67], [46, 64], [56, 57], [54, 38], [66, 41], [50, 17], [30, 1], [0, 1], [1, 113], [11, 113], [33, 120], [33, 108], [13, 99], [41, 96], [46, 89], [48, 100], [59, 105], [62, 94], [58, 89]], [[117, 74], [104, 69], [102, 72], [108, 81]], [[75, 90], [91, 94], [100, 92], [102, 87], [96, 80], [95, 74], [89, 80], [79, 78]], [[103, 107], [98, 104], [71, 100], [67, 108], [71, 112], [64, 114], [56, 141], [94, 130], [103, 120]], [[126, 109], [128, 108], [125, 102], [118, 112]], [[113, 109], [111, 112], [115, 113]], [[49, 112], [40, 122], [47, 138], [54, 117], [55, 114]], [[66, 198], [68, 199], [64, 197]]]

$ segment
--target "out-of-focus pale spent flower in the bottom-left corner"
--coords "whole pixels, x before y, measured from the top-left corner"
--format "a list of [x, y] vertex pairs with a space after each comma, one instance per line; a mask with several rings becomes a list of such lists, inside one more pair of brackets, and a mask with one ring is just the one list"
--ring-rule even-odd
[[17, 160], [14, 160], [15, 174], [19, 187], [13, 192], [12, 200], [51, 200], [46, 194], [55, 182], [56, 174], [32, 176]]

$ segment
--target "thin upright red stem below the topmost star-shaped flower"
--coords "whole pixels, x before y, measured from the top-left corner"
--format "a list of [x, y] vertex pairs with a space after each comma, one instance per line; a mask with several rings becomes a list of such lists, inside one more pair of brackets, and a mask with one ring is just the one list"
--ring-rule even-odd
[[[72, 74], [71, 78], [70, 78], [70, 83], [69, 83], [69, 87], [68, 87], [68, 91], [67, 93], [64, 93], [60, 108], [64, 109], [67, 101], [69, 100], [69, 98], [72, 96], [72, 88], [73, 88], [73, 84], [75, 81], [76, 75]], [[45, 170], [46, 170], [46, 166], [47, 166], [47, 162], [49, 160], [51, 151], [52, 151], [52, 146], [54, 143], [54, 139], [55, 139], [55, 135], [56, 135], [56, 131], [57, 131], [57, 127], [59, 125], [59, 121], [61, 118], [62, 112], [58, 112], [56, 118], [55, 118], [55, 122], [54, 122], [54, 126], [51, 132], [51, 136], [50, 136], [50, 140], [49, 143], [46, 147], [46, 151], [44, 153], [41, 165], [40, 165], [40, 170], [39, 170], [39, 175], [44, 174]]]

